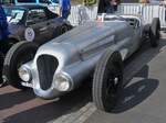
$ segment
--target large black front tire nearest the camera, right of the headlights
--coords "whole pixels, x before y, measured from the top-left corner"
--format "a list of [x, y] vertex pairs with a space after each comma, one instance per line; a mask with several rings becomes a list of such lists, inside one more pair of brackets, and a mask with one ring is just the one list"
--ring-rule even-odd
[[111, 112], [117, 103], [122, 87], [123, 62], [121, 54], [108, 49], [101, 57], [94, 72], [92, 90], [96, 108]]

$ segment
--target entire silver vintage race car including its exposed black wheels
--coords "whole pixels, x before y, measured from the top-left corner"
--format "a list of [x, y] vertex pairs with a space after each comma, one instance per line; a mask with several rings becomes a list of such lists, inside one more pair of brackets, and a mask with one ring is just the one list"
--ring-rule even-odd
[[[6, 57], [3, 79], [19, 89], [32, 88], [38, 97], [53, 99], [77, 88], [95, 69], [94, 102], [98, 109], [110, 110], [115, 102], [111, 97], [116, 96], [122, 85], [122, 63], [144, 40], [149, 38], [156, 47], [159, 30], [157, 18], [144, 25], [136, 15], [103, 14], [97, 21], [86, 22], [39, 48], [33, 43], [15, 44]], [[106, 62], [114, 68], [103, 65]], [[106, 68], [112, 71], [104, 71]], [[103, 71], [114, 76], [105, 78]], [[103, 86], [104, 81], [113, 86]], [[107, 88], [114, 89], [110, 91], [113, 101], [107, 101]]]

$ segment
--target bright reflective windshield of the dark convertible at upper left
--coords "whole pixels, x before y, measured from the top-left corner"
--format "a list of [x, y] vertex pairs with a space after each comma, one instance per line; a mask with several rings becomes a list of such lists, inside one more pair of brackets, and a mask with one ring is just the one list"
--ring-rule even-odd
[[23, 19], [23, 9], [11, 9], [9, 23], [18, 24]]

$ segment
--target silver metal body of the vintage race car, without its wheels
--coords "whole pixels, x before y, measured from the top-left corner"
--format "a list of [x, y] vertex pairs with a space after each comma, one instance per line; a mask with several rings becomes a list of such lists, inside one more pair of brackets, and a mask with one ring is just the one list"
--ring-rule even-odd
[[[136, 52], [144, 26], [137, 15], [102, 14], [97, 21], [86, 22], [39, 47], [33, 60], [18, 69], [21, 85], [33, 88], [43, 99], [72, 91], [93, 74], [107, 48], [120, 51], [123, 60]], [[22, 70], [27, 71], [28, 81], [23, 81]]]

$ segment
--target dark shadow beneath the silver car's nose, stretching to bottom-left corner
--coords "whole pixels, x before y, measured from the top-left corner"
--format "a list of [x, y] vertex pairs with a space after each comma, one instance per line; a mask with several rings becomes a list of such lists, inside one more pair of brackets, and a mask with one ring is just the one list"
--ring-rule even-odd
[[46, 123], [68, 113], [79, 111], [87, 102], [92, 101], [91, 89], [80, 88], [70, 94], [62, 97], [59, 101], [53, 101], [40, 105], [3, 120], [3, 123]]

